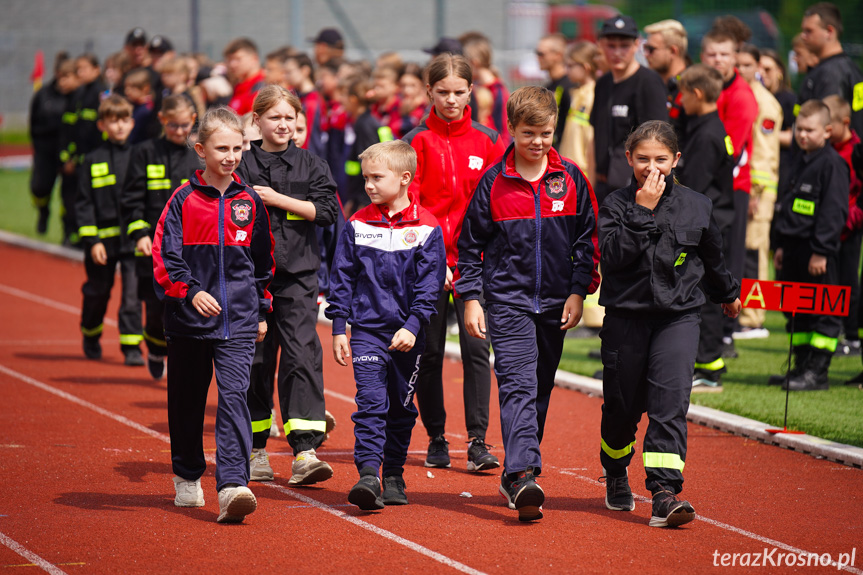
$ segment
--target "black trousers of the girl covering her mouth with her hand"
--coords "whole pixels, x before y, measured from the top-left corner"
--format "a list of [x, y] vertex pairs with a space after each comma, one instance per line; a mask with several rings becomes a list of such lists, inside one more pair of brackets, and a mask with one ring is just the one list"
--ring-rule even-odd
[[647, 412], [642, 456], [652, 493], [683, 489], [686, 412], [698, 346], [697, 311], [671, 317], [621, 317], [606, 308], [602, 339], [602, 424], [599, 459], [612, 476], [626, 472], [635, 432]]

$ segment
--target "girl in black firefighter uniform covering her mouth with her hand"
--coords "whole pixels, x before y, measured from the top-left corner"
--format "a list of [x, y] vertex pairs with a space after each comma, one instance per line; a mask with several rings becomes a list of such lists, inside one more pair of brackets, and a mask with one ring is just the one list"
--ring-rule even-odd
[[692, 521], [678, 500], [686, 460], [686, 411], [698, 351], [699, 310], [705, 294], [726, 315], [740, 311], [740, 285], [725, 265], [722, 235], [709, 198], [674, 182], [680, 158], [667, 122], [649, 121], [626, 142], [633, 182], [599, 210], [603, 395], [600, 461], [606, 506], [632, 511], [627, 466], [642, 414], [646, 486], [653, 494], [653, 527]]

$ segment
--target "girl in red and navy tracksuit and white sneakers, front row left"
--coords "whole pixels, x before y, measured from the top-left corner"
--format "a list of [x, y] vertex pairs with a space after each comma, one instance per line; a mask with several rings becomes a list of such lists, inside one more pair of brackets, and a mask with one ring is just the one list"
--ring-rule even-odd
[[249, 482], [252, 427], [246, 407], [255, 342], [267, 332], [273, 236], [255, 191], [233, 174], [243, 124], [228, 108], [204, 116], [195, 151], [206, 162], [162, 212], [153, 241], [156, 293], [165, 302], [168, 427], [178, 507], [201, 507], [201, 436], [216, 371], [216, 488], [220, 523], [255, 510]]

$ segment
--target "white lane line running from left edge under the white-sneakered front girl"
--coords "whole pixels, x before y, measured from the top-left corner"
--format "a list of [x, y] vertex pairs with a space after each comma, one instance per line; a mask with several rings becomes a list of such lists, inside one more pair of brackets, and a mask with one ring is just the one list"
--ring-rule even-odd
[[[8, 367], [6, 367], [4, 365], [0, 365], [0, 372], [5, 373], [6, 375], [13, 377], [15, 379], [18, 379], [20, 381], [23, 381], [24, 383], [38, 387], [39, 389], [41, 389], [43, 391], [47, 391], [48, 393], [52, 393], [58, 397], [62, 397], [63, 399], [66, 399], [67, 401], [71, 401], [72, 403], [76, 403], [82, 407], [86, 407], [87, 409], [95, 411], [99, 415], [103, 415], [105, 417], [113, 419], [114, 421], [116, 421], [118, 423], [122, 423], [123, 425], [127, 425], [133, 429], [136, 429], [136, 430], [138, 430], [142, 433], [145, 433], [151, 437], [154, 437], [160, 441], [163, 441], [163, 442], [168, 443], [168, 444], [171, 443], [171, 438], [169, 436], [165, 435], [164, 433], [159, 433], [158, 431], [153, 431], [152, 429], [145, 427], [145, 426], [141, 425], [140, 423], [132, 421], [131, 419], [128, 419], [122, 415], [113, 413], [111, 411], [108, 411], [107, 409], [103, 409], [103, 408], [99, 407], [98, 405], [90, 403], [89, 401], [86, 401], [84, 399], [76, 397], [70, 393], [66, 393], [65, 391], [56, 389], [55, 387], [48, 385], [47, 383], [42, 383], [41, 381], [33, 379], [32, 377], [26, 376], [22, 373], [15, 371], [15, 370], [9, 369]], [[211, 463], [215, 463], [215, 456], [213, 454], [208, 454], [207, 460], [210, 461]], [[381, 536], [381, 537], [383, 537], [389, 541], [392, 541], [393, 543], [397, 543], [399, 545], [402, 545], [403, 547], [406, 547], [406, 548], [410, 549], [411, 551], [414, 551], [416, 553], [424, 555], [430, 559], [433, 559], [434, 561], [437, 561], [438, 563], [442, 563], [443, 565], [451, 567], [457, 571], [460, 571], [462, 573], [468, 573], [470, 575], [484, 575], [484, 573], [482, 571], [478, 571], [478, 570], [474, 569], [473, 567], [469, 567], [463, 563], [456, 561], [455, 559], [451, 559], [451, 558], [447, 557], [446, 555], [443, 555], [442, 553], [438, 553], [437, 551], [432, 551], [428, 547], [420, 545], [419, 543], [415, 543], [409, 539], [405, 539], [404, 537], [401, 537], [400, 535], [396, 535], [392, 531], [387, 531], [386, 529], [382, 529], [382, 528], [378, 527], [377, 525], [367, 523], [366, 521], [363, 521], [362, 519], [358, 519], [356, 517], [348, 515], [342, 511], [339, 511], [338, 509], [330, 507], [329, 505], [327, 505], [325, 503], [321, 503], [320, 501], [312, 499], [311, 497], [307, 497], [307, 496], [302, 495], [300, 493], [296, 493], [290, 489], [287, 489], [287, 488], [282, 487], [281, 485], [277, 485], [277, 484], [263, 483], [262, 485], [266, 486], [266, 487], [270, 487], [271, 489], [276, 489], [277, 491], [280, 491], [280, 492], [284, 493], [285, 495], [293, 497], [294, 499], [298, 499], [298, 500], [302, 501], [303, 503], [306, 503], [307, 505], [311, 505], [313, 507], [320, 509], [321, 511], [326, 511], [327, 513], [330, 513], [331, 515], [335, 515], [339, 519], [343, 519], [349, 523], [352, 523], [353, 525], [356, 525], [357, 527], [361, 527], [367, 531], [371, 531], [372, 533], [379, 535], [379, 536]], [[2, 534], [0, 534], [0, 535], [2, 535]], [[10, 541], [11, 541], [11, 539], [10, 539]], [[5, 541], [4, 541], [4, 543], [5, 543]], [[14, 543], [14, 541], [12, 541], [12, 543]], [[31, 561], [33, 561], [33, 559], [30, 558], [29, 556], [27, 558], [30, 559]], [[37, 557], [37, 559], [38, 559], [38, 557]], [[36, 561], [33, 561], [33, 562], [35, 563]], [[50, 564], [47, 564], [47, 565], [49, 565], [50, 567], [53, 568], [53, 566], [51, 566]], [[51, 573], [63, 573], [63, 571], [59, 571], [59, 570], [50, 571], [50, 572]]]

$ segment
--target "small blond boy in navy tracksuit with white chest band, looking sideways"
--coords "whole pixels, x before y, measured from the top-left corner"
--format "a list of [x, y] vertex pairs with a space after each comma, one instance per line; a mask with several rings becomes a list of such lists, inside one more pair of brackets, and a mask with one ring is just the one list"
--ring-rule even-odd
[[326, 315], [333, 320], [336, 361], [347, 365], [353, 358], [357, 383], [352, 419], [360, 480], [348, 501], [374, 510], [408, 502], [402, 475], [418, 414], [414, 382], [423, 330], [446, 277], [446, 252], [437, 220], [408, 193], [416, 171], [410, 144], [375, 144], [360, 159], [372, 205], [354, 214], [341, 234]]

